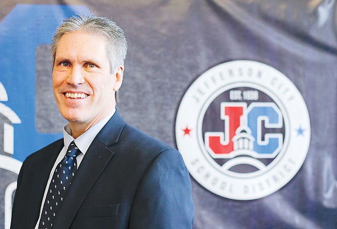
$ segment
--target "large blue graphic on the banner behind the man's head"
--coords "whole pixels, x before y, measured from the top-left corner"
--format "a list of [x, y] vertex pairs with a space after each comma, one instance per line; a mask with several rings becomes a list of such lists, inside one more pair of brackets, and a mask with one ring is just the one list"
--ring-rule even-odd
[[60, 22], [74, 14], [89, 12], [83, 6], [17, 5], [0, 23], [0, 82], [8, 94], [5, 105], [14, 110], [21, 124], [14, 124], [13, 158], [29, 154], [62, 137], [41, 134], [35, 128], [35, 49], [50, 44]]

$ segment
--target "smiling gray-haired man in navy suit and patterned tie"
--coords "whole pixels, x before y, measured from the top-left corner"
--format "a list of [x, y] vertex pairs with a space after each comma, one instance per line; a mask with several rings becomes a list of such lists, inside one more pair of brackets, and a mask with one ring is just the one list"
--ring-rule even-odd
[[75, 16], [51, 46], [63, 139], [27, 157], [12, 229], [192, 228], [191, 182], [179, 152], [115, 109], [127, 44], [106, 18]]

